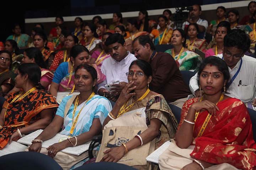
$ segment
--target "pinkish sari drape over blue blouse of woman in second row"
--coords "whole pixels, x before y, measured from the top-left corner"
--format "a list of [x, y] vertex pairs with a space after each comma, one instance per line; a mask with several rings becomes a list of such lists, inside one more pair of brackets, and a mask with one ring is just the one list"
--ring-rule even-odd
[[[101, 69], [98, 68], [96, 66], [96, 64], [88, 64], [88, 65], [94, 67], [96, 69], [96, 71], [97, 71], [97, 83], [96, 83], [96, 85], [102, 83], [102, 81], [104, 81], [106, 79], [106, 76], [101, 72]], [[70, 82], [68, 84], [69, 74], [70, 73], [66, 74], [65, 77], [60, 82], [58, 91], [70, 91], [70, 90], [73, 89], [75, 73], [73, 72], [71, 80], [70, 80]]]

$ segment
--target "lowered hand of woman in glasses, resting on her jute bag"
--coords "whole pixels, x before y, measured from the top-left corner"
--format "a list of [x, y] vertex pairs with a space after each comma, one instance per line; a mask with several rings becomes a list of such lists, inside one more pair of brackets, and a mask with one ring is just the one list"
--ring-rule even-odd
[[124, 146], [119, 146], [116, 148], [107, 149], [105, 152], [106, 155], [101, 159], [101, 162], [117, 162], [121, 158], [123, 158], [126, 149]]

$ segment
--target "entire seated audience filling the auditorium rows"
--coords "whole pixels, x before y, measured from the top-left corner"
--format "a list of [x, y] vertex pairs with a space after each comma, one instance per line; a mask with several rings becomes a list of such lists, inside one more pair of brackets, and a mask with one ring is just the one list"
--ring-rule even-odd
[[[28, 151], [74, 169], [95, 162], [96, 155], [89, 160], [85, 152], [69, 161], [60, 151], [101, 133], [113, 136], [117, 130], [107, 129], [123, 125], [139, 131], [123, 130], [133, 135], [125, 142], [102, 143], [107, 149], [98, 151], [96, 162], [125, 162], [124, 155], [153, 143], [143, 149], [147, 156], [151, 146], [171, 140], [160, 169], [255, 168], [248, 109], [256, 107], [256, 2], [240, 21], [236, 9], [219, 6], [208, 22], [200, 18], [200, 5], [192, 7], [182, 28], [170, 10], [157, 22], [139, 11], [138, 20], [126, 24], [115, 12], [110, 26], [100, 16], [90, 23], [76, 17], [73, 29], [58, 16], [49, 34], [36, 24], [31, 36], [14, 24], [0, 51], [0, 149], [43, 129]], [[164, 44], [172, 48], [156, 51]], [[189, 84], [184, 72], [194, 73]], [[171, 105], [181, 108], [180, 122]], [[69, 137], [42, 148], [58, 133]], [[143, 161], [128, 165], [158, 168]]]

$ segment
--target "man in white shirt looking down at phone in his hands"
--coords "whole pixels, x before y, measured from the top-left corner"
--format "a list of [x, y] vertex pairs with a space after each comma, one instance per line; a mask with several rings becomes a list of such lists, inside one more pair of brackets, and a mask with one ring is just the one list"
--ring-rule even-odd
[[[123, 87], [128, 83], [125, 73], [129, 71], [130, 63], [137, 60], [136, 57], [126, 50], [126, 43], [123, 35], [115, 33], [110, 35], [105, 45], [111, 57], [103, 61], [101, 72], [106, 75], [106, 79], [98, 85], [98, 94], [106, 95], [110, 100], [115, 101], [122, 91]], [[105, 88], [106, 84], [119, 81], [119, 84], [112, 85], [114, 90], [111, 93]]]

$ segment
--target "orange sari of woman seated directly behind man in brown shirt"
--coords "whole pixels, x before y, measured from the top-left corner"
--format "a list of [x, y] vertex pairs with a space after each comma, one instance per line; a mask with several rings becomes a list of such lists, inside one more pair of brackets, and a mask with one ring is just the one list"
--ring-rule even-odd
[[[172, 29], [167, 29], [165, 35], [164, 35], [164, 32], [162, 32], [159, 35], [159, 30], [158, 29], [154, 29], [150, 33], [150, 35], [155, 38], [155, 40], [154, 40], [154, 44], [155, 45], [159, 45], [160, 44], [160, 40], [162, 39], [163, 35], [164, 35], [164, 39], [162, 40], [162, 44], [169, 44], [169, 42], [171, 41], [172, 32], [173, 32]], [[160, 37], [160, 39], [159, 39], [159, 37]]]

